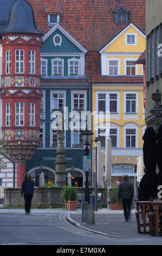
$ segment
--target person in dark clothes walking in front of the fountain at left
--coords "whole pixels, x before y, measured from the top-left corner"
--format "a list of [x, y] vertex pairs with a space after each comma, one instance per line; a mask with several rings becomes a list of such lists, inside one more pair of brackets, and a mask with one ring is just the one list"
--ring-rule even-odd
[[34, 194], [34, 186], [35, 186], [35, 182], [31, 180], [30, 174], [28, 173], [25, 174], [25, 178], [21, 188], [21, 195], [23, 196], [24, 194], [25, 212], [27, 215], [30, 214], [31, 199], [33, 198], [33, 194]]

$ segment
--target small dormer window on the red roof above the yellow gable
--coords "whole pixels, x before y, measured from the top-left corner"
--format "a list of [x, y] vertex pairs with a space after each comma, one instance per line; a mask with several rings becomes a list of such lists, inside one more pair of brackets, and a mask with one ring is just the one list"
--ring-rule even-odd
[[115, 23], [128, 23], [128, 13], [129, 11], [120, 5], [114, 10], [114, 20]]

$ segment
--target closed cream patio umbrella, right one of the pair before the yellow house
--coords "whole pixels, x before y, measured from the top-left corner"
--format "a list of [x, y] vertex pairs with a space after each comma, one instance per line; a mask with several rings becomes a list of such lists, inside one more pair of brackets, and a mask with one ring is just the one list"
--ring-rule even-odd
[[106, 154], [105, 154], [105, 182], [107, 189], [111, 186], [112, 180], [112, 139], [106, 139]]

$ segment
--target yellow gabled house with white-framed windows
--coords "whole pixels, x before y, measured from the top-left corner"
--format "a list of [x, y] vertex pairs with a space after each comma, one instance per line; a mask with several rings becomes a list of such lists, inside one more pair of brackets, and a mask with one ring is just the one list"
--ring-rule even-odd
[[[146, 124], [143, 67], [135, 62], [144, 51], [145, 35], [130, 23], [100, 51], [103, 82], [92, 84], [93, 139], [101, 142], [104, 167], [106, 138], [112, 138], [112, 187], [118, 187], [125, 174], [136, 187], [137, 157], [142, 153]], [[92, 169], [95, 172], [94, 144]]]

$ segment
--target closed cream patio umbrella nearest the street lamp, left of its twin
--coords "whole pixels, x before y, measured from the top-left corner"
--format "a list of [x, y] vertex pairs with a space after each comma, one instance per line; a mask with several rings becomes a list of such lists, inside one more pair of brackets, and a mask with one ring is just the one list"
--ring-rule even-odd
[[101, 159], [101, 142], [98, 142], [98, 156], [97, 156], [97, 168], [98, 168], [98, 187], [103, 187], [103, 164]]

